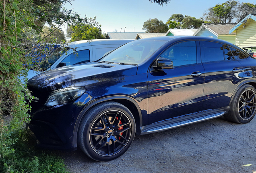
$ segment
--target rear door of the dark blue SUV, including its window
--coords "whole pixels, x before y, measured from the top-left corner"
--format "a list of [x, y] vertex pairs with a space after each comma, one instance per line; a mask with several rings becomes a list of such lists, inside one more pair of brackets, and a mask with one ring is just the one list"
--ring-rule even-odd
[[227, 107], [244, 67], [227, 44], [200, 41], [200, 48], [205, 69], [204, 110]]

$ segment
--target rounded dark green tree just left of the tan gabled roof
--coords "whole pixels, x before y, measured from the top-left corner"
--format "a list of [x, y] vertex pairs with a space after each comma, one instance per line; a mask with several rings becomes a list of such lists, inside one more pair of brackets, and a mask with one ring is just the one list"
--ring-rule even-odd
[[195, 17], [191, 16], [185, 16], [185, 18], [182, 20], [182, 29], [197, 29], [202, 26], [204, 21], [202, 19], [197, 19]]

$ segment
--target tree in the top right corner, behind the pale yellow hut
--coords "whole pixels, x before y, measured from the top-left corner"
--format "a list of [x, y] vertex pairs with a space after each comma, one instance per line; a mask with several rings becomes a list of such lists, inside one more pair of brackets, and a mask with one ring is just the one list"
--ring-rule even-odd
[[235, 13], [235, 17], [237, 18], [236, 22], [238, 23], [248, 16], [248, 14], [256, 14], [256, 5], [243, 2], [237, 5]]

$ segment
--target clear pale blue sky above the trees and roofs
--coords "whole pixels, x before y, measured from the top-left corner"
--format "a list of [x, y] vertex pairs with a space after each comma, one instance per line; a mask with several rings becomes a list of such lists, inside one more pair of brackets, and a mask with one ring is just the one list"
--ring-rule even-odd
[[[203, 16], [205, 10], [227, 0], [171, 0], [167, 5], [159, 6], [149, 0], [74, 0], [72, 5], [64, 4], [67, 9], [77, 12], [81, 17], [94, 17], [105, 32], [145, 32], [143, 23], [157, 18], [164, 23], [172, 14], [188, 15], [195, 18]], [[255, 0], [250, 2], [255, 4]], [[122, 30], [121, 30], [122, 28]], [[65, 30], [65, 29], [64, 29]]]

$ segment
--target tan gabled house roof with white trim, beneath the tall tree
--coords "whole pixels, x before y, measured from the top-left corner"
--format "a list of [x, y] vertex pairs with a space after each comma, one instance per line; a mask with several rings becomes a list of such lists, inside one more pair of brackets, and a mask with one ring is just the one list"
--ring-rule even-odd
[[[209, 30], [215, 36], [230, 35], [229, 30], [233, 28], [235, 25], [236, 23], [206, 23], [206, 24], [202, 24], [202, 26], [200, 26], [200, 28], [196, 31], [194, 35], [196, 35], [202, 29]], [[235, 33], [232, 33], [231, 35], [233, 34]]]

